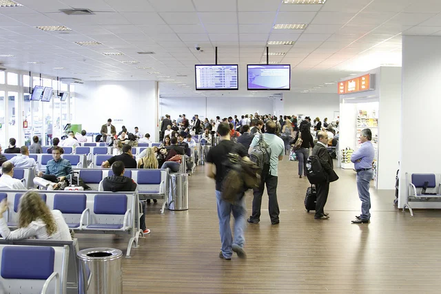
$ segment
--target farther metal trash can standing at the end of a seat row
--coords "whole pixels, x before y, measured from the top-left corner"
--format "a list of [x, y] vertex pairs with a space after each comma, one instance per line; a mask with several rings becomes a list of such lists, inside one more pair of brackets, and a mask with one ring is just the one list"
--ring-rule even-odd
[[187, 210], [188, 209], [188, 175], [170, 174], [168, 190], [168, 209]]

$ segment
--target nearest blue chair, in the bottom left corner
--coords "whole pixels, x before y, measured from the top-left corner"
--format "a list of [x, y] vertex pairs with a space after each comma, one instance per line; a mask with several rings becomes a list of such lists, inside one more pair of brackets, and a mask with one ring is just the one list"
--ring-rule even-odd
[[66, 287], [66, 251], [65, 247], [3, 246], [2, 288], [8, 293], [61, 293], [60, 288]]

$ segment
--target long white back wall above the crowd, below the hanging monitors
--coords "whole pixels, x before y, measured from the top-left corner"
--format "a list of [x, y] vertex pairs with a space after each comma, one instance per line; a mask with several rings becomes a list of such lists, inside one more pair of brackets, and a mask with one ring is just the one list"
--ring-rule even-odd
[[269, 98], [241, 97], [241, 98], [219, 98], [219, 97], [162, 97], [160, 98], [160, 116], [170, 114], [172, 120], [178, 118], [179, 114], [185, 114], [192, 118], [198, 114], [199, 118], [220, 118], [234, 116], [240, 118], [242, 114], [272, 114], [273, 101]]

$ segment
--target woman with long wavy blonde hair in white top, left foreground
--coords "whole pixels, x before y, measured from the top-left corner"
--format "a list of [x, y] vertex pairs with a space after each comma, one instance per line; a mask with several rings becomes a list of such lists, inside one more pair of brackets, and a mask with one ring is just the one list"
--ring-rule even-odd
[[10, 231], [3, 213], [8, 209], [6, 199], [0, 203], [0, 234], [6, 240], [20, 240], [35, 237], [41, 240], [70, 241], [68, 224], [59, 210], [50, 211], [37, 191], [21, 196], [19, 204], [18, 229]]

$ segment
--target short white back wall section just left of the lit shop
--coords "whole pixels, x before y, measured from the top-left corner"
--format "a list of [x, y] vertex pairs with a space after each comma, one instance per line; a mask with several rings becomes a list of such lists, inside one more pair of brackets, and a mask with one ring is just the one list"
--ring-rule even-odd
[[317, 116], [323, 121], [328, 118], [329, 123], [334, 119], [334, 112], [340, 111], [340, 96], [331, 93], [292, 93], [283, 94], [285, 114], [303, 114], [312, 120]]

